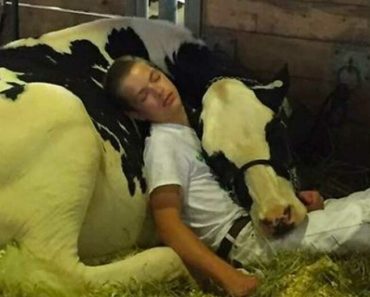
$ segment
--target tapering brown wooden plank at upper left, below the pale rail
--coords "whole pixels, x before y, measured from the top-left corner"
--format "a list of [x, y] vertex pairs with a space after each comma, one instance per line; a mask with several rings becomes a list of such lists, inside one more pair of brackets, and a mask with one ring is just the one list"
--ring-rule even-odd
[[[94, 16], [20, 7], [21, 37], [37, 37], [44, 33], [97, 19]], [[40, 22], [42, 20], [42, 22]]]

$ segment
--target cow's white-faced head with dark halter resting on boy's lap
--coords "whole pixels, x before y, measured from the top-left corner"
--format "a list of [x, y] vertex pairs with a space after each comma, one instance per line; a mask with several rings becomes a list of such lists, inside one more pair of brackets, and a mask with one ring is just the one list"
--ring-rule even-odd
[[200, 116], [211, 167], [221, 184], [239, 192], [242, 204], [252, 198], [252, 219], [267, 235], [292, 229], [306, 215], [291, 182], [288, 139], [277, 116], [285, 89], [283, 80], [248, 87], [222, 78], [207, 89]]

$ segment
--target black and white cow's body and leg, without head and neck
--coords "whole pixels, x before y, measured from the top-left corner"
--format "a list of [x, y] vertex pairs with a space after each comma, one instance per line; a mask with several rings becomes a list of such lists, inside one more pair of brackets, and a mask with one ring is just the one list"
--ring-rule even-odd
[[106, 70], [125, 54], [166, 69], [187, 43], [202, 45], [170, 23], [122, 18], [1, 49], [0, 246], [16, 241], [93, 283], [187, 274], [167, 248], [84, 264], [157, 243], [142, 175], [145, 126], [106, 100]]

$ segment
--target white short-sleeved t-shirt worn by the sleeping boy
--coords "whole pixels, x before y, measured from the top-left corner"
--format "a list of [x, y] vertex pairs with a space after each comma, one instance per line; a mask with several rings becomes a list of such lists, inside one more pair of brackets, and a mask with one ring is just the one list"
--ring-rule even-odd
[[159, 186], [180, 185], [182, 220], [212, 249], [218, 248], [232, 222], [246, 215], [210, 172], [192, 128], [152, 124], [145, 140], [144, 162], [149, 193]]

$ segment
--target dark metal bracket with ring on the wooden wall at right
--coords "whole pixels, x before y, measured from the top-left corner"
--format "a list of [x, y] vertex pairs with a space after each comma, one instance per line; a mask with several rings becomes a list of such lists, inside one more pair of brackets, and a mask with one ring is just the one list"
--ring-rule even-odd
[[337, 83], [344, 83], [352, 90], [370, 84], [369, 48], [349, 45], [337, 47], [333, 68]]

